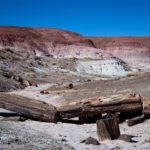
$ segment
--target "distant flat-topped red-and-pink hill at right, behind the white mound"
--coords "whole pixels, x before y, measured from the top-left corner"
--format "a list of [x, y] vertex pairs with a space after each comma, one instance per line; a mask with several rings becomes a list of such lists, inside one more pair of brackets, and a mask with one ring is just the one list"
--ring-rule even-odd
[[97, 48], [104, 49], [125, 62], [149, 67], [150, 37], [88, 37]]

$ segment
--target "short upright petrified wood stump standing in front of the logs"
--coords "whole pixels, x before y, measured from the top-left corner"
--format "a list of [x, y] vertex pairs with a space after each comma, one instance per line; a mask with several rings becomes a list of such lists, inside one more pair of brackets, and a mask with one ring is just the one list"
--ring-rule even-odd
[[100, 141], [114, 140], [120, 136], [119, 119], [116, 117], [97, 120], [96, 125]]

